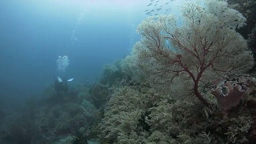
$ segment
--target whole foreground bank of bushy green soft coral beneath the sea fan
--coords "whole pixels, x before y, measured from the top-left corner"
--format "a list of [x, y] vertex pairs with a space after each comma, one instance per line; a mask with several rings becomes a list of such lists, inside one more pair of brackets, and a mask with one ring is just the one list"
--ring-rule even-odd
[[[146, 88], [147, 89], [147, 88]], [[125, 86], [108, 102], [100, 123], [101, 142], [107, 144], [243, 144], [253, 119], [244, 106], [231, 109], [222, 120], [217, 109], [208, 120], [200, 103], [180, 102], [147, 89]]]

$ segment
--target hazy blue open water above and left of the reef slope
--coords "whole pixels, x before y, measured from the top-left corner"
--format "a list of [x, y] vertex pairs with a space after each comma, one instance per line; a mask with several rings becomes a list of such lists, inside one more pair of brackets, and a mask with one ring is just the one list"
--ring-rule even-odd
[[[166, 8], [174, 12], [180, 1]], [[147, 16], [144, 10], [154, 8], [147, 7], [149, 3], [0, 0], [0, 98], [19, 100], [42, 94], [58, 74], [58, 56], [69, 57], [66, 75], [75, 78], [73, 83], [94, 82], [103, 64], [129, 54], [139, 39], [136, 25]], [[78, 41], [72, 40], [72, 30]]]

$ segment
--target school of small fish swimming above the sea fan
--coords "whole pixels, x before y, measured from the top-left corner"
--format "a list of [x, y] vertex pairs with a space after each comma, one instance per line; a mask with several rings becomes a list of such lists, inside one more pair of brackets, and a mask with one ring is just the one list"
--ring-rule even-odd
[[[156, 16], [156, 15], [159, 14], [158, 11], [162, 10], [162, 7], [164, 5], [168, 5], [168, 4], [170, 4], [170, 2], [173, 2], [173, 1], [176, 1], [176, 0], [169, 0], [169, 2], [166, 2], [164, 5], [161, 5], [161, 6], [158, 5], [159, 1], [160, 0], [150, 0], [150, 4], [148, 4], [147, 6], [153, 6], [154, 8], [152, 10], [145, 10], [144, 12], [146, 12], [146, 14], [148, 14], [149, 16], [153, 16], [153, 15]], [[169, 10], [171, 10], [171, 9], [170, 8], [166, 9], [164, 11], [164, 14], [167, 14], [169, 12]], [[156, 14], [155, 14], [155, 12], [156, 12]]]

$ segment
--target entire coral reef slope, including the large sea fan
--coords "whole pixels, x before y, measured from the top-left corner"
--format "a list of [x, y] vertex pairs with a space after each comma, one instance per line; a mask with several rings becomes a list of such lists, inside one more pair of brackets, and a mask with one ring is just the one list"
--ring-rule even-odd
[[252, 56], [235, 31], [245, 18], [204, 2], [181, 7], [183, 26], [173, 14], [146, 18], [132, 54], [95, 84], [0, 106], [0, 143], [255, 144], [256, 79], [243, 74]]

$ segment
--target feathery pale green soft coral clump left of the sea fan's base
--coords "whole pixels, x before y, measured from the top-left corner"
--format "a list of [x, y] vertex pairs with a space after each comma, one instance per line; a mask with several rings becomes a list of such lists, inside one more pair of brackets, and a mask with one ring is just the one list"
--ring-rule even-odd
[[110, 143], [126, 143], [141, 140], [143, 128], [138, 121], [146, 111], [147, 95], [125, 86], [120, 88], [107, 103], [104, 118], [100, 124], [102, 136]]

